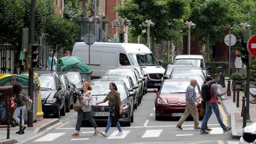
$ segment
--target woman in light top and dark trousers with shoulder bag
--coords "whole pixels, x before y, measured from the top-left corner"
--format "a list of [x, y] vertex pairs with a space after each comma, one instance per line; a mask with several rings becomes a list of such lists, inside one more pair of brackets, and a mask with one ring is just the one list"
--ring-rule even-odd
[[94, 127], [93, 135], [98, 135], [99, 130], [97, 129], [97, 125], [95, 120], [91, 115], [91, 108], [90, 108], [90, 101], [92, 100], [92, 86], [88, 82], [82, 83], [83, 88], [83, 95], [80, 95], [80, 101], [82, 101], [82, 108], [77, 112], [77, 124], [75, 125], [75, 132], [72, 136], [77, 137], [79, 136], [80, 128], [82, 125], [83, 118], [86, 117], [88, 121]]

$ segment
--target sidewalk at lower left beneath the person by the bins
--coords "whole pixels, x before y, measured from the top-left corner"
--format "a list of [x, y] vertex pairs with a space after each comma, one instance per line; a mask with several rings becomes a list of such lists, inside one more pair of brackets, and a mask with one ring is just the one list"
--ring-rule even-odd
[[51, 125], [57, 124], [58, 122], [59, 119], [43, 119], [43, 121], [34, 122], [33, 127], [27, 127], [27, 129], [25, 129], [25, 133], [22, 135], [15, 133], [19, 131], [19, 126], [10, 127], [10, 139], [6, 139], [7, 125], [0, 125], [0, 144], [11, 144], [21, 142], [22, 140], [32, 137], [36, 133], [47, 129]]

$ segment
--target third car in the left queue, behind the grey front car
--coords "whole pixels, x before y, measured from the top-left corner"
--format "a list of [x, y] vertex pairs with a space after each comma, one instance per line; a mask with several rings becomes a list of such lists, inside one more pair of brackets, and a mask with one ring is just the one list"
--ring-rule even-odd
[[134, 69], [110, 69], [106, 72], [106, 75], [129, 75], [132, 78], [135, 86], [139, 86], [137, 91], [139, 92], [138, 101], [139, 104], [142, 101], [142, 79], [138, 77]]

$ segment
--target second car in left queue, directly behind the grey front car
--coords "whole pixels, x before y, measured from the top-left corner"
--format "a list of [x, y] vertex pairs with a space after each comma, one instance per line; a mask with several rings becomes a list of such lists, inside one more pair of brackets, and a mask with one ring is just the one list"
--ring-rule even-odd
[[[130, 78], [130, 76], [128, 75], [103, 75], [101, 77], [102, 79], [121, 79], [124, 80], [124, 83], [126, 83], [127, 88], [130, 91], [130, 94], [133, 95], [134, 98], [134, 109], [138, 108], [139, 105], [139, 101], [138, 101], [138, 97], [139, 97], [139, 92], [137, 91], [137, 88], [139, 88], [139, 86], [135, 86], [134, 82], [132, 82], [132, 78]], [[132, 90], [132, 91], [131, 91]]]

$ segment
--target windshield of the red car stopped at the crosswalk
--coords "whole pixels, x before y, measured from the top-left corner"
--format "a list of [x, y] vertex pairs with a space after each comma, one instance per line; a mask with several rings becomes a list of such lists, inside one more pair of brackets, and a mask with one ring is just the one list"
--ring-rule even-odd
[[[189, 85], [190, 82], [164, 82], [161, 93], [186, 93]], [[198, 93], [197, 87], [195, 87], [195, 93]]]

